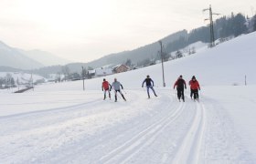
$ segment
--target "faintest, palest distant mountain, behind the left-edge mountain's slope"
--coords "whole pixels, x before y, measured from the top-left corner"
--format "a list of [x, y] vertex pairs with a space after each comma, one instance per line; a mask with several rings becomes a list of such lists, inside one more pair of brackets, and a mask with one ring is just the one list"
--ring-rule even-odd
[[54, 65], [66, 65], [70, 63], [69, 60], [61, 58], [59, 56], [54, 56], [53, 54], [41, 51], [38, 49], [25, 51], [22, 49], [18, 49], [23, 55], [28, 56], [29, 58], [36, 60], [39, 63], [42, 63], [45, 67], [54, 66]]

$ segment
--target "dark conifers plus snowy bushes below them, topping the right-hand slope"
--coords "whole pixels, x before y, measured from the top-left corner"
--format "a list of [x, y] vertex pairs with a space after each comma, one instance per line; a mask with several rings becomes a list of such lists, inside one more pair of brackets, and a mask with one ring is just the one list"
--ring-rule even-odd
[[[224, 42], [229, 40], [230, 37], [237, 37], [242, 34], [248, 34], [256, 31], [256, 15], [245, 16], [242, 14], [234, 15], [231, 13], [229, 16], [221, 16], [214, 21], [214, 38], [215, 41]], [[162, 54], [163, 60], [171, 60], [183, 57], [185, 51], [188, 55], [195, 54], [195, 47], [187, 47], [196, 42], [210, 43], [210, 29], [208, 26], [201, 26], [196, 29], [187, 32], [186, 36], [180, 36], [178, 39], [166, 43], [165, 51]], [[187, 49], [184, 49], [187, 47]], [[156, 60], [161, 60], [161, 56], [158, 54], [155, 58], [147, 58], [144, 61], [137, 63], [138, 66], [149, 66], [152, 65]]]

